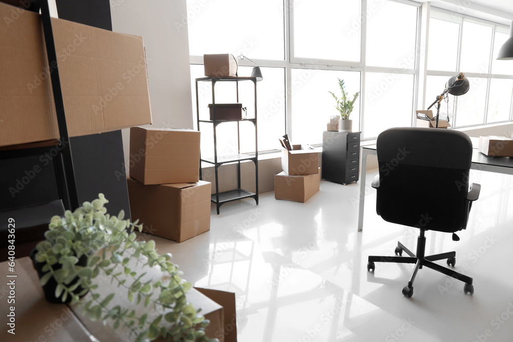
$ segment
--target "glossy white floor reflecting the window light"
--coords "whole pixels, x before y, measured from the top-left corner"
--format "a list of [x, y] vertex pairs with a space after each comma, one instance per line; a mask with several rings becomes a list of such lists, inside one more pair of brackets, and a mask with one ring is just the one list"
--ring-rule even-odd
[[428, 232], [426, 254], [456, 250], [473, 295], [424, 268], [408, 299], [401, 290], [413, 265], [367, 272], [368, 255], [392, 255], [398, 240], [415, 250], [418, 230], [385, 223], [367, 187], [357, 232], [360, 183], [322, 182], [305, 204], [269, 192], [259, 206], [246, 199], [220, 215], [212, 205], [209, 232], [181, 244], [151, 238], [194, 286], [236, 293], [240, 342], [513, 341], [513, 176], [472, 171], [471, 181], [481, 197], [461, 240]]

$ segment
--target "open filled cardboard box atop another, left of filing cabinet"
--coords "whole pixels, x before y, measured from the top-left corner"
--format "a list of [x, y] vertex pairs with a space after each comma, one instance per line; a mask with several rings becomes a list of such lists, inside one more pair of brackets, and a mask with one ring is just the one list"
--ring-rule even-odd
[[292, 151], [282, 150], [282, 169], [288, 175], [319, 173], [319, 152], [309, 146], [292, 145]]

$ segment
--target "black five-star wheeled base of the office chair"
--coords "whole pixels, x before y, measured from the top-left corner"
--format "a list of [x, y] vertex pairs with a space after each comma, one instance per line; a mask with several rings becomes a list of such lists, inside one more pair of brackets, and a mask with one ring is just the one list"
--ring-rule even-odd
[[[398, 256], [371, 255], [371, 256], [369, 256], [369, 261], [367, 263], [367, 270], [374, 271], [374, 269], [376, 269], [376, 266], [374, 265], [375, 262], [377, 262], [377, 263], [415, 264], [415, 268], [413, 268], [413, 272], [411, 273], [411, 277], [410, 277], [410, 280], [408, 281], [408, 285], [403, 288], [403, 294], [408, 298], [410, 298], [413, 295], [413, 281], [415, 280], [415, 277], [417, 276], [417, 272], [420, 269], [422, 269], [422, 267], [424, 267], [424, 266], [427, 268], [430, 268], [432, 270], [435, 270], [437, 272], [443, 273], [452, 278], [455, 278], [457, 280], [463, 281], [465, 283], [465, 285], [463, 287], [463, 291], [465, 292], [465, 294], [467, 294], [467, 293], [473, 294], [474, 293], [474, 288], [472, 286], [472, 278], [470, 278], [469, 276], [466, 276], [464, 274], [461, 274], [459, 272], [456, 272], [455, 270], [452, 270], [450, 268], [445, 268], [443, 266], [433, 263], [433, 261], [436, 261], [436, 260], [447, 259], [447, 265], [454, 267], [456, 264], [456, 252], [453, 251], [453, 252], [446, 252], [446, 253], [424, 256], [425, 247], [426, 247], [426, 238], [424, 236], [424, 230], [421, 230], [421, 234], [419, 235], [419, 237], [417, 239], [417, 253], [411, 252], [403, 244], [398, 242], [396, 250], [395, 250], [395, 253]], [[401, 256], [403, 252], [405, 252], [409, 256]]]

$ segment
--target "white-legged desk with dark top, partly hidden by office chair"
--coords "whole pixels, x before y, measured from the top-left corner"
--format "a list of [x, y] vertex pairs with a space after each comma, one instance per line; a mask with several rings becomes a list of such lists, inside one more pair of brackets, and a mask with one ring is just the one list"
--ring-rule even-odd
[[[359, 210], [358, 210], [358, 231], [363, 230], [363, 212], [365, 207], [365, 190], [366, 190], [366, 176], [367, 176], [367, 156], [377, 155], [376, 145], [369, 145], [362, 147], [362, 165], [360, 167], [360, 194], [359, 194]], [[497, 172], [513, 175], [513, 158], [508, 157], [488, 157], [479, 152], [477, 148], [472, 149], [472, 164], [470, 169]], [[370, 186], [369, 186], [370, 187]]]

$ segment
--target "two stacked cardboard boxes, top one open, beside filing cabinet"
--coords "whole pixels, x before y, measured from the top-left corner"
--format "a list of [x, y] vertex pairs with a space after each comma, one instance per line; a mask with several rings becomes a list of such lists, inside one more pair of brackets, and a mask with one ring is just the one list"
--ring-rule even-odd
[[282, 169], [274, 176], [274, 198], [305, 203], [319, 191], [319, 152], [292, 145], [291, 151], [282, 150]]

